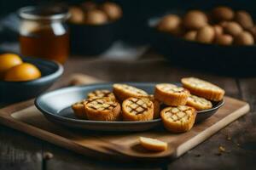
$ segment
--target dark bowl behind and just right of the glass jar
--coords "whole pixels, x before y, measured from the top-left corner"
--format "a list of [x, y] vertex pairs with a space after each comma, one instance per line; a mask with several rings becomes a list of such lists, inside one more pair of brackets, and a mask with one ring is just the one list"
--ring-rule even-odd
[[69, 24], [71, 52], [84, 55], [102, 54], [118, 39], [119, 21], [101, 26]]

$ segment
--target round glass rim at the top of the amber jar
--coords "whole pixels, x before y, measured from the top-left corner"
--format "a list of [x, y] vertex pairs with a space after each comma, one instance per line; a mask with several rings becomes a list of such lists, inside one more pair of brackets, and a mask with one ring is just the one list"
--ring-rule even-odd
[[26, 20], [67, 20], [70, 16], [64, 6], [28, 6], [20, 8], [18, 14]]

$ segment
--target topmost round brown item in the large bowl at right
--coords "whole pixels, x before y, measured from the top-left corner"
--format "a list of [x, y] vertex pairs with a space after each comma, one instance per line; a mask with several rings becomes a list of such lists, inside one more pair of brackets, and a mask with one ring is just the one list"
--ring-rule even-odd
[[234, 12], [229, 7], [220, 6], [212, 9], [212, 18], [216, 21], [232, 20]]

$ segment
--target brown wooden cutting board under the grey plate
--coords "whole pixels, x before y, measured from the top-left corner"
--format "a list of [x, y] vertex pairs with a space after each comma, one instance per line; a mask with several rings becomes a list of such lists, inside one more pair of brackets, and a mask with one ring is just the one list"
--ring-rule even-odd
[[[143, 161], [173, 159], [249, 111], [249, 105], [244, 101], [230, 97], [224, 99], [224, 106], [216, 114], [195, 124], [187, 133], [170, 133], [164, 127], [141, 133], [100, 133], [61, 127], [45, 119], [33, 105], [33, 100], [0, 110], [0, 123], [87, 156]], [[166, 141], [168, 149], [163, 152], [144, 150], [138, 143], [139, 136]]]

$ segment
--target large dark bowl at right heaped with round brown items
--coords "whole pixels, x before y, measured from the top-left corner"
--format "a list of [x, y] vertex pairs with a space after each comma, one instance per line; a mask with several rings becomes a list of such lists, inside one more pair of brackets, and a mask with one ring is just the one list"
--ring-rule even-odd
[[177, 65], [231, 76], [256, 75], [256, 46], [221, 46], [186, 41], [156, 29], [161, 17], [148, 20], [152, 48]]

